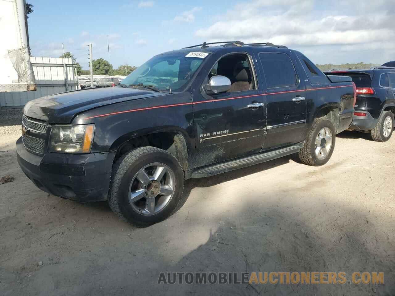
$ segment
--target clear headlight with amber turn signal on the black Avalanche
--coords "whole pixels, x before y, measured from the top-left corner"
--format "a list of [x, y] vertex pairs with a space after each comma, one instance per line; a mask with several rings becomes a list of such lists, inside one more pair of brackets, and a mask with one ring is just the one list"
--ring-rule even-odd
[[60, 153], [89, 153], [92, 147], [94, 124], [53, 126], [49, 151]]

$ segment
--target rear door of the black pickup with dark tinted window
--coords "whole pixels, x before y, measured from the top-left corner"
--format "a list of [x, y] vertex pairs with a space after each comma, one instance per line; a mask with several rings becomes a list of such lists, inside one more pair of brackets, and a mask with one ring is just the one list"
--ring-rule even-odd
[[288, 50], [258, 54], [267, 92], [267, 135], [262, 150], [303, 141], [307, 100], [293, 59]]

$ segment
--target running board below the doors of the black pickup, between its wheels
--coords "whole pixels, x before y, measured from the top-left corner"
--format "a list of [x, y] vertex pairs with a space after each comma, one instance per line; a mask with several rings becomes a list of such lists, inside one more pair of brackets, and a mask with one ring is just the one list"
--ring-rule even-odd
[[210, 165], [209, 167], [203, 167], [192, 172], [192, 178], [204, 178], [209, 176], [214, 176], [217, 174], [222, 174], [223, 172], [229, 172], [231, 170], [241, 169], [243, 167], [249, 167], [250, 165], [256, 165], [258, 163], [263, 163], [265, 161], [270, 161], [283, 156], [294, 154], [299, 152], [303, 147], [303, 142], [288, 146], [286, 148], [277, 149], [270, 152], [263, 152], [260, 154], [254, 154], [251, 156], [233, 159], [225, 163], [217, 163], [215, 165]]

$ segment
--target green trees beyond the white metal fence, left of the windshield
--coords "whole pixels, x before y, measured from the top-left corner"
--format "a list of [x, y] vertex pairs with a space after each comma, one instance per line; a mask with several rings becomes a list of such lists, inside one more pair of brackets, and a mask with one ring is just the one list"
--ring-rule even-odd
[[[77, 62], [77, 59], [74, 58], [74, 55], [71, 54], [70, 51], [65, 52], [64, 55], [62, 54], [59, 58], [71, 58], [75, 65], [77, 65], [77, 75], [89, 75], [90, 70], [82, 69], [81, 65]], [[109, 64], [103, 58], [98, 58], [97, 60], [93, 60], [93, 74], [94, 75], [122, 75], [127, 76], [132, 73], [137, 67], [121, 65], [117, 69], [113, 68], [113, 65]]]

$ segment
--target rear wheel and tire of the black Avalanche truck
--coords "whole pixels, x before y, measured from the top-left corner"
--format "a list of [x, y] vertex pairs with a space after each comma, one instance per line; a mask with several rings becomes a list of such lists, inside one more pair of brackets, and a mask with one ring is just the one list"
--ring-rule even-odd
[[[322, 131], [324, 131], [322, 133]], [[331, 144], [329, 146], [329, 131], [331, 134]], [[319, 141], [318, 137], [324, 135], [325, 141]], [[321, 144], [318, 146], [325, 146], [325, 150], [321, 149], [321, 151], [316, 153], [316, 141]], [[329, 161], [332, 156], [333, 150], [335, 148], [336, 142], [336, 130], [333, 123], [328, 120], [326, 117], [315, 118], [313, 124], [311, 126], [310, 131], [308, 132], [307, 139], [303, 144], [303, 147], [297, 154], [297, 158], [299, 161], [304, 163], [305, 165], [312, 165], [318, 167], [320, 165], [324, 165]]]

